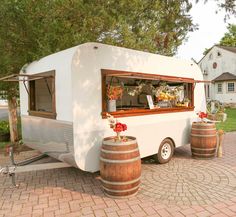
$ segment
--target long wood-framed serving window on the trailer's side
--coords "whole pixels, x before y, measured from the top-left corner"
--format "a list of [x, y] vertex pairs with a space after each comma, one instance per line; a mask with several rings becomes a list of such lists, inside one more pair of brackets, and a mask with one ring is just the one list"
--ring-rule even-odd
[[194, 79], [102, 69], [102, 117], [194, 109]]

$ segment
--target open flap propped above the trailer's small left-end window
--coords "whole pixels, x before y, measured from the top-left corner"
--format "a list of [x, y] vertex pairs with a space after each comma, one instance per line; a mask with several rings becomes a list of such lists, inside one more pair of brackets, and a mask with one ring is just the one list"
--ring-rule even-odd
[[53, 78], [52, 75], [27, 75], [27, 74], [12, 74], [0, 78], [0, 81], [19, 82], [19, 81], [34, 81], [44, 78]]

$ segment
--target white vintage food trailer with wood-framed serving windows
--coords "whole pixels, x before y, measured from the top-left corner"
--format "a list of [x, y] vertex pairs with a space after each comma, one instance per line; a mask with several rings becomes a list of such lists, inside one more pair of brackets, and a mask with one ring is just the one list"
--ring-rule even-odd
[[136, 96], [124, 92], [111, 112], [127, 124], [124, 135], [137, 138], [142, 158], [156, 155], [168, 162], [174, 147], [189, 143], [196, 113], [206, 111], [201, 70], [192, 61], [99, 43], [44, 57], [18, 76], [24, 143], [81, 170], [98, 171], [102, 140], [114, 134], [105, 118], [112, 77], [126, 92], [141, 83], [182, 87], [188, 106], [158, 104], [152, 96], [157, 106], [150, 109], [146, 89]]

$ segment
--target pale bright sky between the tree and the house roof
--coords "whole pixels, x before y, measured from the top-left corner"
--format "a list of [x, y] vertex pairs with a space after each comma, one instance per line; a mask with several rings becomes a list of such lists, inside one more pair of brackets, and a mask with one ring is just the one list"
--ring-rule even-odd
[[194, 24], [198, 24], [198, 30], [188, 34], [188, 40], [179, 47], [177, 57], [197, 62], [203, 57], [205, 48], [210, 48], [219, 43], [220, 39], [227, 32], [228, 23], [236, 24], [236, 18], [232, 17], [224, 22], [224, 11], [217, 10], [214, 0], [208, 0], [206, 4], [200, 0], [194, 4], [190, 11]]

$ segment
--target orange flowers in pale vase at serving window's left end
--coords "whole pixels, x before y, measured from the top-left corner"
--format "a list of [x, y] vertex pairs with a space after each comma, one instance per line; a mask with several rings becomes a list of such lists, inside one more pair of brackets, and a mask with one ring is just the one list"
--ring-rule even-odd
[[107, 110], [109, 112], [116, 111], [116, 100], [120, 99], [123, 95], [123, 87], [120, 85], [107, 87]]

